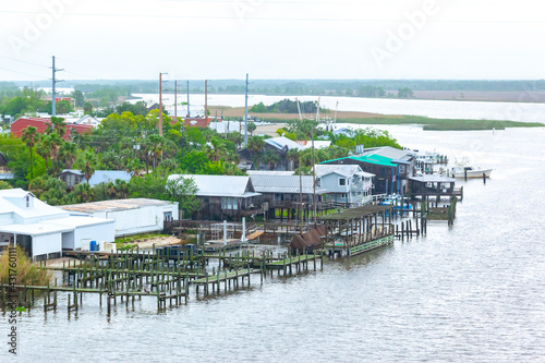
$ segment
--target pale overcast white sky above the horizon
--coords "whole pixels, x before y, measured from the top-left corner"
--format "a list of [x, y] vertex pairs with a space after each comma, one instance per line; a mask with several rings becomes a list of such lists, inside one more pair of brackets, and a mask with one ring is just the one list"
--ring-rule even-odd
[[544, 78], [542, 0], [0, 2], [0, 81]]

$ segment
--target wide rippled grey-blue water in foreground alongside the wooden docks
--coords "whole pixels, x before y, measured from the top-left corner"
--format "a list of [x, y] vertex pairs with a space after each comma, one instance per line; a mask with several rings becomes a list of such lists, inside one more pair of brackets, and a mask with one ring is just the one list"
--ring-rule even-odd
[[20, 361], [543, 362], [545, 129], [390, 131], [495, 169], [462, 182], [452, 228], [162, 314], [154, 299], [110, 319], [97, 297], [77, 316], [37, 308], [19, 324]]

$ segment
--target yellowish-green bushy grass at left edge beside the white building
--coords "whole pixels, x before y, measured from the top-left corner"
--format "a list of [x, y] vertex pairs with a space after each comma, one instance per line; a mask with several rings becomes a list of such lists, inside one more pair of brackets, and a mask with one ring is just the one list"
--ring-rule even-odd
[[[10, 257], [12, 258], [10, 259]], [[51, 280], [51, 271], [34, 265], [20, 246], [17, 246], [15, 256], [10, 256], [9, 250], [4, 250], [0, 256], [0, 282], [10, 283], [10, 270], [11, 273], [15, 271], [16, 285], [46, 286]]]

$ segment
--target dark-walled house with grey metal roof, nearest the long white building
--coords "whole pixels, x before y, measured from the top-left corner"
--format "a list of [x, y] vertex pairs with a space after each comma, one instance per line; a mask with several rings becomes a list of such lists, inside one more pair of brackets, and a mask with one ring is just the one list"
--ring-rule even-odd
[[197, 219], [240, 220], [263, 213], [262, 194], [255, 191], [250, 177], [172, 174], [168, 180], [180, 178], [193, 179], [198, 189], [201, 209], [193, 216]]

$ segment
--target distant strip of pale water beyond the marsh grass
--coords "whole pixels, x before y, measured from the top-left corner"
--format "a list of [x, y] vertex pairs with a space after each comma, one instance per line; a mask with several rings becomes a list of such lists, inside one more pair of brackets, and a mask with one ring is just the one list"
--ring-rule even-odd
[[[142, 97], [148, 105], [159, 101], [156, 94], [134, 95]], [[295, 99], [293, 96], [263, 96], [250, 95], [249, 107], [264, 102], [271, 105], [284, 98]], [[316, 101], [317, 96], [299, 96], [301, 101]], [[136, 102], [141, 99], [131, 100]], [[186, 100], [183, 94], [178, 95], [178, 102]], [[174, 105], [173, 95], [164, 96], [165, 105]], [[523, 104], [523, 102], [481, 102], [481, 101], [455, 101], [455, 100], [423, 100], [423, 99], [380, 99], [360, 97], [320, 97], [320, 104], [325, 108], [335, 110], [337, 101], [340, 111], [360, 111], [384, 114], [413, 114], [426, 116], [431, 118], [444, 119], [474, 119], [474, 120], [511, 120], [525, 122], [543, 122], [545, 114], [545, 104]], [[203, 109], [204, 95], [191, 95], [191, 105]], [[208, 95], [208, 105], [244, 107], [244, 95]], [[173, 106], [172, 106], [173, 109]], [[183, 113], [184, 107], [179, 107], [179, 112]], [[192, 111], [194, 112], [194, 111]], [[304, 110], [303, 110], [304, 112]], [[180, 113], [180, 114], [181, 114]], [[330, 114], [332, 117], [332, 113]]]

